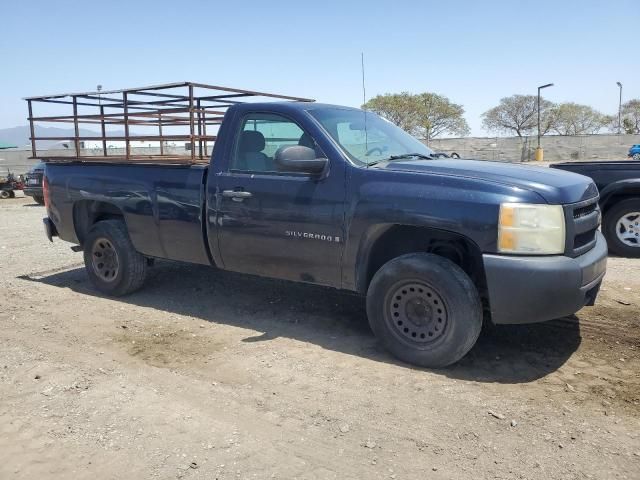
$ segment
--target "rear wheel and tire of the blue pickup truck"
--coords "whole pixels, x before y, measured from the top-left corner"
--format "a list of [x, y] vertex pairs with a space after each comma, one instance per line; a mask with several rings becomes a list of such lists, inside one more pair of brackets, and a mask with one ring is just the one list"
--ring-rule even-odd
[[103, 220], [91, 227], [84, 240], [84, 264], [91, 283], [116, 297], [142, 287], [147, 273], [147, 260], [136, 251], [121, 220]]

